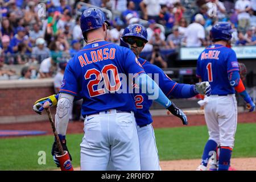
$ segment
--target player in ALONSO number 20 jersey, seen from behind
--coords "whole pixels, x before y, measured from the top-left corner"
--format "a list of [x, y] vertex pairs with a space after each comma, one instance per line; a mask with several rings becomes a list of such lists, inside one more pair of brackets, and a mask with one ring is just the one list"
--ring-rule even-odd
[[[63, 141], [64, 150], [68, 151], [65, 142], [68, 111], [75, 96], [79, 96], [83, 98], [81, 110], [85, 118], [85, 134], [80, 144], [81, 170], [106, 170], [110, 154], [115, 169], [140, 170], [139, 140], [134, 118], [136, 107], [133, 94], [128, 92], [132, 84], [129, 76], [133, 75], [131, 80], [147, 95], [158, 96], [154, 99], [186, 125], [187, 117], [146, 75], [130, 49], [105, 41], [109, 22], [101, 10], [85, 10], [80, 22], [87, 44], [65, 69], [55, 115], [57, 133]], [[154, 88], [154, 92], [150, 92], [149, 88]], [[59, 151], [54, 142], [53, 158], [57, 154]], [[58, 163], [56, 158], [55, 162]]]

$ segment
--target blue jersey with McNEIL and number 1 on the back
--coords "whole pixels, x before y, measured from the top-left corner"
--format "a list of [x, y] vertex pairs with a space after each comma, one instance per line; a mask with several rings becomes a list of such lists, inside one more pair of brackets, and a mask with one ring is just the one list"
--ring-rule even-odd
[[205, 48], [197, 59], [196, 75], [202, 81], [209, 81], [213, 95], [235, 93], [229, 84], [229, 74], [234, 71], [239, 71], [236, 52], [219, 44]]

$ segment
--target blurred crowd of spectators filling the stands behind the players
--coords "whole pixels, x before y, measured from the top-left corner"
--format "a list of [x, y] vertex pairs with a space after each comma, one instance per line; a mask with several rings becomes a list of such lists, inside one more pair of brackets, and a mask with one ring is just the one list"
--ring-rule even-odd
[[[0, 0], [0, 80], [60, 75], [85, 45], [80, 30], [85, 3], [112, 12], [110, 42], [119, 44], [127, 24], [146, 26], [143, 51], [150, 53], [144, 58], [161, 68], [170, 59], [161, 50], [208, 46], [217, 21], [232, 23], [232, 46], [256, 45], [256, 0]], [[23, 65], [20, 73], [5, 68], [13, 64]]]

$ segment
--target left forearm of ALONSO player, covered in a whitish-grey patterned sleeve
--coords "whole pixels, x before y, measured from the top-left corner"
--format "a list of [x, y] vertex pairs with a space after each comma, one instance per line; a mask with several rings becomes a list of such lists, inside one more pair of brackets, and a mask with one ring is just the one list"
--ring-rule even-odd
[[73, 100], [75, 96], [67, 93], [60, 93], [59, 101], [57, 103], [57, 110], [55, 114], [55, 127], [57, 133], [60, 135], [66, 135], [69, 113], [73, 108]]

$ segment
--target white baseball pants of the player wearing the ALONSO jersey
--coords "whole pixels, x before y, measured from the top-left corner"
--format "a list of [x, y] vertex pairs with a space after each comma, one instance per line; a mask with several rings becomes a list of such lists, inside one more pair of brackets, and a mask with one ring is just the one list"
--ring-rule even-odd
[[133, 112], [115, 109], [89, 115], [84, 122], [81, 170], [105, 171], [110, 155], [116, 170], [139, 171], [139, 139]]

